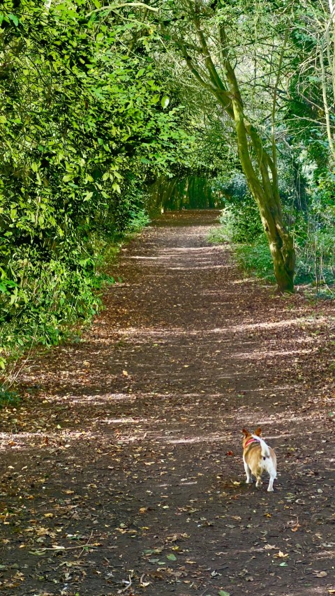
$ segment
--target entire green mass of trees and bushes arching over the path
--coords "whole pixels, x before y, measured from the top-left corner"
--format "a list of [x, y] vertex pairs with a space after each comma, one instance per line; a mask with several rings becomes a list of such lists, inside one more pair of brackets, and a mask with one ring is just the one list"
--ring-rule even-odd
[[334, 40], [331, 0], [5, 0], [3, 354], [94, 314], [101, 255], [167, 200], [253, 218], [279, 290], [328, 283]]

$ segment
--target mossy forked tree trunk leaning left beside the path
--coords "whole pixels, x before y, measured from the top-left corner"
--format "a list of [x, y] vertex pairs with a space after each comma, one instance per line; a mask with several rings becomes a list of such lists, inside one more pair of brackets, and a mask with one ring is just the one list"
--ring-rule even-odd
[[[186, 0], [187, 1], [187, 0]], [[292, 237], [285, 229], [283, 223], [283, 213], [281, 209], [281, 199], [278, 191], [278, 173], [276, 160], [272, 159], [267, 153], [262, 138], [256, 128], [246, 119], [244, 107], [239, 90], [239, 84], [230, 64], [228, 55], [228, 40], [225, 36], [223, 24], [218, 25], [221, 40], [221, 55], [223, 63], [223, 73], [226, 84], [218, 74], [218, 70], [211, 59], [211, 51], [204, 31], [201, 27], [200, 14], [203, 15], [207, 8], [200, 3], [193, 3], [188, 0], [188, 10], [191, 21], [195, 26], [195, 31], [200, 43], [196, 51], [201, 54], [202, 64], [204, 64], [207, 75], [204, 75], [195, 63], [195, 59], [190, 56], [190, 47], [183, 39], [179, 37], [177, 43], [184, 54], [184, 59], [191, 73], [198, 82], [218, 100], [225, 112], [234, 122], [234, 128], [237, 134], [237, 144], [239, 150], [239, 160], [246, 176], [248, 187], [260, 211], [262, 225], [267, 234], [269, 249], [274, 262], [274, 274], [280, 292], [294, 291], [295, 274], [295, 249]], [[201, 8], [201, 10], [200, 10]], [[191, 46], [194, 48], [194, 45]], [[275, 150], [275, 147], [274, 147]], [[251, 157], [253, 156], [253, 157]]]

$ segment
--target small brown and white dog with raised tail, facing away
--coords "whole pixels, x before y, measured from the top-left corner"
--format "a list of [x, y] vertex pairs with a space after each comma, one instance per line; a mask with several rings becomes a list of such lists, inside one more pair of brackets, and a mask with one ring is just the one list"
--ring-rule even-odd
[[277, 459], [274, 449], [271, 449], [265, 440], [260, 437], [260, 429], [257, 429], [254, 433], [249, 433], [249, 431], [243, 429], [242, 433], [244, 434], [243, 461], [247, 484], [253, 482], [251, 477], [253, 475], [256, 478], [256, 486], [259, 487], [262, 484], [262, 473], [266, 471], [270, 477], [267, 490], [272, 492], [274, 490], [274, 479], [277, 477]]

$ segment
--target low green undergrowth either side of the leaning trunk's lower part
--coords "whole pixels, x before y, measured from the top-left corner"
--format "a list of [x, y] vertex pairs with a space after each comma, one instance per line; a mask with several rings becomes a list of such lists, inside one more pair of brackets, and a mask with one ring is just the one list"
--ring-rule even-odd
[[[285, 217], [295, 239], [297, 253], [296, 283], [314, 286], [318, 292], [332, 292], [335, 283], [335, 185], [332, 174], [324, 177], [311, 194], [298, 200], [292, 188], [295, 170], [286, 172]], [[216, 184], [220, 184], [216, 181]], [[221, 184], [228, 196], [228, 207], [223, 209], [218, 228], [211, 230], [213, 244], [230, 242], [235, 258], [248, 274], [274, 281], [269, 246], [257, 209], [243, 184], [232, 179]]]

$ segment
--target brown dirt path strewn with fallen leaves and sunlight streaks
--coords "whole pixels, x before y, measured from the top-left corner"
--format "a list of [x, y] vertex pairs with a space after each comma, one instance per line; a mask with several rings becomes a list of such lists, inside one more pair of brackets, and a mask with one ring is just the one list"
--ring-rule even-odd
[[[121, 253], [82, 340], [1, 411], [4, 595], [335, 593], [335, 305], [244, 280], [170, 214]], [[241, 429], [276, 449], [246, 485]]]

